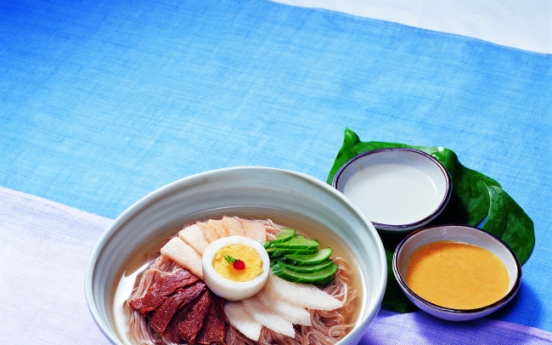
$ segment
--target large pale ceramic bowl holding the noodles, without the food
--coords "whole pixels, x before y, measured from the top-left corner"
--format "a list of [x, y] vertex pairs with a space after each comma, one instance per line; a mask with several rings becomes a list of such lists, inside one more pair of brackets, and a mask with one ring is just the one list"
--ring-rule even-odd
[[339, 344], [357, 344], [377, 314], [387, 280], [383, 245], [373, 225], [343, 195], [308, 175], [262, 167], [215, 170], [184, 178], [147, 195], [123, 212], [92, 252], [85, 278], [90, 312], [113, 344], [114, 291], [123, 267], [140, 248], [161, 244], [186, 222], [264, 211], [313, 219], [332, 229], [358, 267], [360, 298], [354, 329]]

